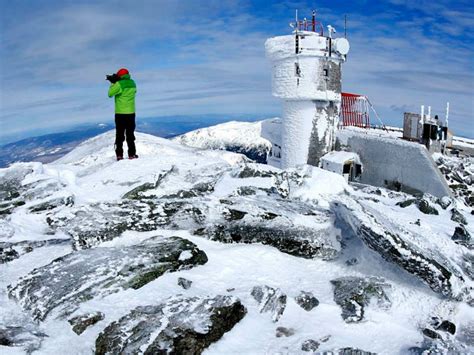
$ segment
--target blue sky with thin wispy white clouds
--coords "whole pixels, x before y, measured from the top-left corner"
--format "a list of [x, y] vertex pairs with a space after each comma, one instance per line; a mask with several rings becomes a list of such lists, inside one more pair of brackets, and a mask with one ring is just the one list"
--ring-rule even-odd
[[107, 73], [130, 69], [140, 119], [272, 117], [264, 42], [316, 10], [351, 52], [343, 90], [369, 96], [387, 124], [431, 105], [474, 137], [472, 1], [0, 0], [0, 142], [112, 122]]

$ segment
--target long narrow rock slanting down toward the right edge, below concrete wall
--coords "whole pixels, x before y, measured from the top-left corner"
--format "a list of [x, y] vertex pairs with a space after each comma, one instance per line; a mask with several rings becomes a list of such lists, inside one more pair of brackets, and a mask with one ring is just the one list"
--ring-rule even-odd
[[458, 268], [439, 250], [423, 250], [411, 241], [425, 237], [389, 223], [379, 212], [353, 200], [336, 203], [334, 209], [355, 235], [382, 258], [423, 280], [435, 292], [454, 299], [463, 297], [464, 291], [454, 286], [464, 283]]

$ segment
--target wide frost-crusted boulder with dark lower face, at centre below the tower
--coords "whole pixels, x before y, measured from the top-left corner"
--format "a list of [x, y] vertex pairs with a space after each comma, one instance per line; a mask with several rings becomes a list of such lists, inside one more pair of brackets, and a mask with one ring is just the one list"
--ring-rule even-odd
[[195, 234], [224, 243], [261, 243], [308, 259], [339, 255], [340, 231], [326, 210], [275, 196], [229, 196], [220, 203]]

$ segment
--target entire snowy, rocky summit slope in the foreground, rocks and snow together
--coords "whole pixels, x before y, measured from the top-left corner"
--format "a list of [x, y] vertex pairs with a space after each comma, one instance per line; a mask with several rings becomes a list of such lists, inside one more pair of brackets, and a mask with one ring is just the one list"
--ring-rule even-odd
[[[435, 346], [425, 328], [474, 350], [474, 253], [451, 239], [459, 215], [473, 235], [474, 217], [459, 198], [425, 196], [438, 211], [425, 214], [397, 206], [404, 193], [311, 166], [280, 170], [140, 133], [140, 158], [117, 162], [113, 141], [105, 133], [57, 162], [0, 170], [0, 352], [403, 353]], [[355, 287], [363, 321], [349, 326], [341, 279], [384, 280], [391, 306]], [[232, 321], [219, 304], [238, 311]], [[440, 310], [454, 335], [430, 323]], [[206, 332], [214, 321], [223, 325]]]

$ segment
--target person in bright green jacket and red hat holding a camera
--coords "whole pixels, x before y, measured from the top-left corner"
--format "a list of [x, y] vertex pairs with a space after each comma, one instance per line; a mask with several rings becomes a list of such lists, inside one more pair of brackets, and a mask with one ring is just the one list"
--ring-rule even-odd
[[[115, 98], [115, 154], [117, 160], [123, 159], [123, 141], [127, 140], [128, 158], [138, 158], [135, 148], [135, 95], [137, 86], [130, 78], [127, 69], [120, 69], [113, 76], [109, 97]], [[110, 80], [110, 79], [109, 79]]]

